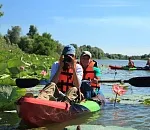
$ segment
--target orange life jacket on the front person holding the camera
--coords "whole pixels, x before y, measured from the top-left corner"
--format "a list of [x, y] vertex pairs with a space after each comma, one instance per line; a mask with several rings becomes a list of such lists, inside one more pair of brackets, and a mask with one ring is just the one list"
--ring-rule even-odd
[[72, 69], [68, 69], [67, 71], [61, 71], [58, 77], [57, 86], [58, 89], [63, 93], [65, 93], [69, 88], [74, 87]]

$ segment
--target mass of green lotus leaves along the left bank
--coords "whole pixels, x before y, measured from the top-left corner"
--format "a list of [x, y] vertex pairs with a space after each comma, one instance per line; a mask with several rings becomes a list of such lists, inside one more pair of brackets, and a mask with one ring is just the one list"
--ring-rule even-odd
[[16, 87], [15, 79], [48, 79], [49, 69], [52, 63], [58, 60], [59, 55], [55, 53], [54, 58], [25, 53], [18, 44], [8, 44], [2, 35], [0, 47], [0, 110], [12, 110], [15, 109], [14, 102], [26, 93], [26, 89]]

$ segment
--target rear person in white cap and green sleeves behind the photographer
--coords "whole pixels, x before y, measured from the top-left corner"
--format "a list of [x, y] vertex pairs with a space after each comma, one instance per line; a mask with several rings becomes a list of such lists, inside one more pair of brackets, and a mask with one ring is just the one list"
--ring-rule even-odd
[[[83, 82], [81, 92], [86, 99], [97, 97], [103, 103], [105, 102], [104, 95], [100, 91], [101, 70], [97, 66], [97, 62], [92, 60], [92, 54], [89, 51], [83, 51], [80, 56], [80, 64], [83, 68]], [[84, 82], [85, 80], [85, 82]], [[90, 81], [89, 83], [87, 81]]]

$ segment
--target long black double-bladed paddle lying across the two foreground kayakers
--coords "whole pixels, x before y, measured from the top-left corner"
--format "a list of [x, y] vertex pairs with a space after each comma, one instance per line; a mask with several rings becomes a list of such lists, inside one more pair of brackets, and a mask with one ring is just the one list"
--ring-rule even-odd
[[[87, 80], [83, 80], [83, 82], [90, 82]], [[150, 87], [150, 77], [133, 77], [129, 80], [100, 80], [99, 83], [129, 83], [135, 87]], [[36, 85], [40, 84], [40, 81], [35, 78], [23, 79], [18, 78], [16, 79], [16, 85], [19, 88], [31, 88]]]

